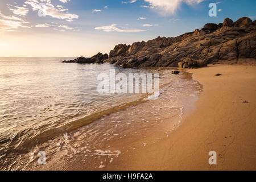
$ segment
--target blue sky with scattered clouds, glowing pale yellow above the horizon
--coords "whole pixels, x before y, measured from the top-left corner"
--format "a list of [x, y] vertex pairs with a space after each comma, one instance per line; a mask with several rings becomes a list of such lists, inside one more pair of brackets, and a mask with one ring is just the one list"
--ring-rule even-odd
[[1, 0], [0, 57], [93, 56], [227, 17], [255, 20], [255, 10], [255, 0]]

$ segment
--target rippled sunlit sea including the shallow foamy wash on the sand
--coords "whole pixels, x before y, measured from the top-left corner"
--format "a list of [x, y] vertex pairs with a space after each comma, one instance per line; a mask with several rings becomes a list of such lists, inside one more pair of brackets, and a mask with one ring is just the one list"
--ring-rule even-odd
[[[111, 163], [127, 151], [122, 144], [131, 150], [168, 137], [201, 89], [188, 73], [61, 63], [69, 59], [73, 57], [0, 57], [0, 169], [41, 169], [39, 151], [46, 151], [52, 169], [60, 161], [73, 169], [74, 161], [83, 160], [83, 169], [105, 168], [101, 157], [108, 156]], [[97, 76], [110, 69], [126, 75], [158, 73], [159, 98], [98, 93]]]

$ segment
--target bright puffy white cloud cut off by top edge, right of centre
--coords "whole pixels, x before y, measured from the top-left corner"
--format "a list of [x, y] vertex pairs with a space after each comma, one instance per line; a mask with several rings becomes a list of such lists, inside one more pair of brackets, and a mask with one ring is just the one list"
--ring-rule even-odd
[[181, 3], [187, 3], [188, 5], [199, 4], [204, 0], [144, 0], [150, 4], [150, 8], [154, 8], [161, 15], [175, 14], [177, 9], [180, 8]]

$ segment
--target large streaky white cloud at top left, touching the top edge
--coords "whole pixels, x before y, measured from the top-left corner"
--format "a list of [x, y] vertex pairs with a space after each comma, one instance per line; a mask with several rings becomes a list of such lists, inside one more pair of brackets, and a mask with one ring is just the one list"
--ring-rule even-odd
[[42, 10], [43, 15], [51, 16], [52, 18], [65, 19], [68, 22], [72, 22], [73, 19], [79, 18], [79, 15], [63, 12], [63, 9], [60, 9], [60, 6], [56, 9], [55, 6], [51, 4], [51, 0], [41, 1], [46, 3], [43, 6], [38, 0], [27, 0], [25, 3], [30, 5], [33, 11]]

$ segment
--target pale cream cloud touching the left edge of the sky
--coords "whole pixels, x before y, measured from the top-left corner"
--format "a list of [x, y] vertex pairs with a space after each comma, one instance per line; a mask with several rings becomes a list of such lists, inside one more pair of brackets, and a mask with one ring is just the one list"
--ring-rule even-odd
[[5, 16], [0, 11], [0, 31], [18, 31], [18, 28], [30, 28], [24, 24], [28, 23], [16, 16]]

